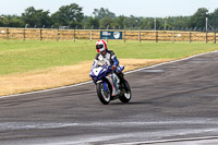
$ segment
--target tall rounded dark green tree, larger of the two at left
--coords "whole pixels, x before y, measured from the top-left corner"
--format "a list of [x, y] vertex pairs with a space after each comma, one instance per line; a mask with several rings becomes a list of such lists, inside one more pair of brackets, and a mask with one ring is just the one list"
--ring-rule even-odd
[[72, 3], [61, 7], [51, 17], [58, 26], [81, 26], [84, 17], [82, 10], [83, 8], [78, 7], [78, 4]]

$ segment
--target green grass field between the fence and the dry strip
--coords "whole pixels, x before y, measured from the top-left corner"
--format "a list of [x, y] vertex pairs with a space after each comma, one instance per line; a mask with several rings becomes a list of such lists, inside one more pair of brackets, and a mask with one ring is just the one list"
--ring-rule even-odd
[[[108, 43], [119, 58], [179, 59], [218, 50], [218, 45], [205, 43]], [[94, 60], [95, 41], [21, 41], [0, 40], [0, 74], [44, 70]]]

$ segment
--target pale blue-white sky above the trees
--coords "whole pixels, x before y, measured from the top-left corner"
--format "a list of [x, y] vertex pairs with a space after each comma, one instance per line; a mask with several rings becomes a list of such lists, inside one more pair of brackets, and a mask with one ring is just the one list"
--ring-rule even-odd
[[0, 0], [0, 15], [21, 15], [26, 8], [34, 7], [55, 13], [62, 5], [77, 3], [85, 15], [94, 9], [105, 8], [119, 15], [143, 17], [190, 16], [198, 8], [214, 12], [218, 0]]

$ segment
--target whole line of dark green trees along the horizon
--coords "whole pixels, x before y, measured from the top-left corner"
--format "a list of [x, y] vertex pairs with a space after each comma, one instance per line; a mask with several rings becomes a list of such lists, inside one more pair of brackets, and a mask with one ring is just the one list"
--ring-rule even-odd
[[108, 9], [94, 9], [93, 15], [83, 13], [83, 8], [76, 3], [62, 5], [55, 13], [45, 10], [27, 8], [21, 16], [0, 15], [0, 27], [35, 27], [35, 28], [114, 28], [114, 29], [196, 29], [205, 31], [206, 17], [208, 29], [218, 28], [218, 9], [209, 13], [206, 8], [199, 8], [190, 16], [143, 17], [116, 15]]

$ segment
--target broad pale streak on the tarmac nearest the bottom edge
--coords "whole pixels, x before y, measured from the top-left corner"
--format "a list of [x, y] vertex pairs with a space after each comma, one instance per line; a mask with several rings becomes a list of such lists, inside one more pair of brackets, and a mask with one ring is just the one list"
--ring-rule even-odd
[[[156, 141], [161, 142], [162, 137], [170, 137], [170, 136], [183, 136], [189, 134], [201, 134], [201, 133], [217, 133], [218, 129], [183, 129], [183, 130], [169, 130], [169, 131], [155, 131], [155, 132], [131, 132], [131, 133], [113, 133], [113, 134], [93, 134], [93, 135], [74, 135], [74, 136], [57, 136], [57, 137], [50, 137], [50, 138], [35, 138], [34, 141], [14, 141], [10, 143], [3, 143], [1, 145], [92, 145], [92, 144], [110, 144], [110, 142], [113, 142], [113, 145], [116, 144], [143, 144], [146, 143], [153, 143]], [[137, 136], [137, 140], [135, 140], [135, 136]], [[161, 136], [161, 137], [160, 137]], [[182, 138], [181, 138], [182, 140]], [[141, 143], [138, 142], [141, 141]], [[132, 142], [132, 143], [130, 143]], [[134, 143], [135, 142], [135, 143]]]

